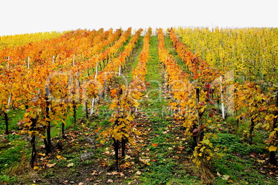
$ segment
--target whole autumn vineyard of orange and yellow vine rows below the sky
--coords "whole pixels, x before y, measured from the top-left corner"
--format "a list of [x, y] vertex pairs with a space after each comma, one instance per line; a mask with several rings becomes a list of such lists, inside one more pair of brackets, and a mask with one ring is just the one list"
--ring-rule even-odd
[[277, 184], [278, 29], [0, 37], [1, 184]]

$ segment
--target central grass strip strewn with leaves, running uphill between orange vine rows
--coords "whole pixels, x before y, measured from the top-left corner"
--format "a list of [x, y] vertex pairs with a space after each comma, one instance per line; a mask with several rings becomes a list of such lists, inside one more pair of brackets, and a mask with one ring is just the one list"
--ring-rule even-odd
[[[147, 135], [147, 145], [142, 148], [148, 151], [150, 162], [147, 168], [142, 168], [140, 184], [188, 184], [198, 182], [196, 177], [188, 175], [181, 166], [180, 157], [176, 157], [174, 148], [179, 130], [174, 127], [172, 119], [167, 119], [167, 99], [164, 95], [164, 70], [158, 62], [157, 37], [151, 37], [149, 63], [147, 63], [146, 81], [149, 82], [147, 99], [141, 101], [140, 112], [144, 113], [148, 124], [145, 130], [151, 130]], [[144, 157], [144, 155], [142, 156]], [[176, 157], [176, 158], [175, 158]], [[191, 172], [189, 172], [191, 173]]]

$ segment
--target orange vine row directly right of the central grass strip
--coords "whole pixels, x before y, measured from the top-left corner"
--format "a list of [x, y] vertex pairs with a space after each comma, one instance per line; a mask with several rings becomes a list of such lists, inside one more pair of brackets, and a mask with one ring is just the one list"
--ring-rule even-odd
[[[203, 116], [207, 108], [207, 93], [198, 86], [198, 83], [192, 84], [187, 75], [178, 66], [174, 57], [169, 54], [165, 48], [163, 31], [158, 30], [158, 55], [159, 59], [165, 64], [167, 72], [167, 83], [169, 93], [172, 94], [172, 99], [169, 105], [176, 110], [176, 119], [180, 120], [185, 126], [185, 135], [188, 139], [194, 140], [194, 162], [198, 168], [210, 166], [212, 161], [212, 143], [208, 138], [210, 134], [205, 134], [210, 124], [210, 120]], [[209, 169], [205, 173], [210, 173]]]

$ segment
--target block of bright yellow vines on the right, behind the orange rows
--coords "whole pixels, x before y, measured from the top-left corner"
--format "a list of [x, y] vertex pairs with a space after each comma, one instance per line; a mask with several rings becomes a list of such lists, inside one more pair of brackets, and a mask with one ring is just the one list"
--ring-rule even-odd
[[180, 39], [215, 68], [240, 81], [277, 83], [277, 28], [177, 28]]

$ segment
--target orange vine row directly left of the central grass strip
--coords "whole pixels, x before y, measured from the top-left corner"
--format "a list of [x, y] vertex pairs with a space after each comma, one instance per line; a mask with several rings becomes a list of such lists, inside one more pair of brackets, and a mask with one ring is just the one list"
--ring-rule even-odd
[[[138, 37], [140, 32], [136, 32]], [[124, 158], [127, 142], [133, 144], [133, 135], [141, 135], [141, 133], [131, 124], [139, 106], [138, 100], [142, 97], [142, 90], [145, 89], [146, 64], [149, 59], [149, 39], [151, 28], [144, 37], [144, 45], [140, 52], [138, 65], [132, 71], [133, 80], [128, 87], [120, 84], [118, 88], [111, 90], [111, 96], [114, 97], [110, 108], [114, 109], [113, 115], [109, 120], [112, 127], [102, 133], [102, 138], [113, 138], [115, 150], [115, 167], [119, 167], [120, 157]], [[128, 53], [128, 52], [127, 52]], [[104, 142], [104, 140], [102, 140]]]

